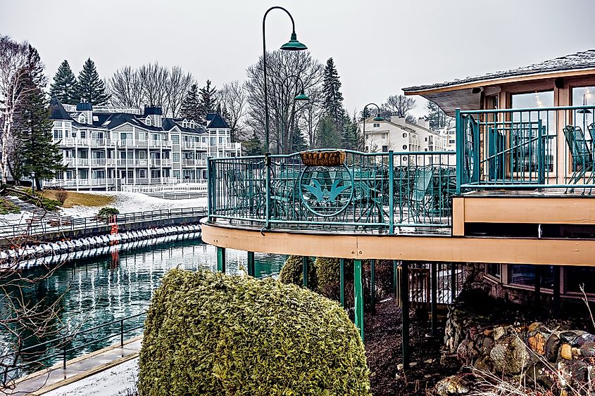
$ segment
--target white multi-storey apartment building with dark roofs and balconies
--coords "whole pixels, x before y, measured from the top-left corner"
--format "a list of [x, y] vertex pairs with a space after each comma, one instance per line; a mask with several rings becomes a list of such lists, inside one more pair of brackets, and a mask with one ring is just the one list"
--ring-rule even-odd
[[76, 106], [51, 101], [54, 143], [66, 170], [46, 186], [119, 190], [123, 185], [206, 183], [206, 158], [241, 155], [219, 114], [205, 126], [163, 117], [160, 107]]

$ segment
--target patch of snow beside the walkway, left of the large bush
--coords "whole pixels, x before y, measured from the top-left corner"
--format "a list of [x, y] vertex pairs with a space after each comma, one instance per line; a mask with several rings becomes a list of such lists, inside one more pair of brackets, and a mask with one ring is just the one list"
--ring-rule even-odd
[[134, 389], [139, 373], [139, 359], [132, 359], [94, 376], [44, 393], [44, 396], [115, 396], [127, 395]]

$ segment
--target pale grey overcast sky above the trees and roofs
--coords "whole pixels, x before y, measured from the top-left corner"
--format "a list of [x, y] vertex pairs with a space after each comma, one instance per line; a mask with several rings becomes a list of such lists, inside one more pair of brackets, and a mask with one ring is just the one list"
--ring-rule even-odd
[[[0, 34], [37, 47], [50, 77], [91, 57], [101, 77], [158, 61], [220, 86], [246, 78], [276, 5], [313, 56], [334, 58], [350, 112], [403, 87], [595, 48], [594, 0], [0, 0]], [[269, 13], [269, 50], [290, 33], [287, 15]]]

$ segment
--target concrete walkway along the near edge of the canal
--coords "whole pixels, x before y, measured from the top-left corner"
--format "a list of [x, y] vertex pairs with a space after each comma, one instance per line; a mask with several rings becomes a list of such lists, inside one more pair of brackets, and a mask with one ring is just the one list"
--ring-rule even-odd
[[138, 336], [125, 341], [124, 347], [120, 347], [118, 343], [68, 360], [65, 370], [62, 368], [62, 363], [59, 363], [49, 369], [37, 371], [16, 381], [13, 390], [0, 390], [0, 392], [6, 392], [8, 395], [43, 395], [50, 390], [134, 359], [139, 355], [141, 340], [142, 336]]

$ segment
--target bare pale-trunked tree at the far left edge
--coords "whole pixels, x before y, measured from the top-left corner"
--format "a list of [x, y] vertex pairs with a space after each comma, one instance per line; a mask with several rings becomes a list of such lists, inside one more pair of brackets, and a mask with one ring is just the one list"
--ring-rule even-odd
[[0, 119], [2, 121], [2, 141], [0, 172], [2, 183], [8, 176], [8, 148], [12, 137], [15, 110], [29, 91], [19, 89], [27, 75], [27, 54], [29, 44], [17, 43], [8, 36], [0, 36]]

